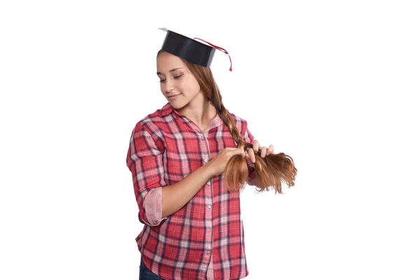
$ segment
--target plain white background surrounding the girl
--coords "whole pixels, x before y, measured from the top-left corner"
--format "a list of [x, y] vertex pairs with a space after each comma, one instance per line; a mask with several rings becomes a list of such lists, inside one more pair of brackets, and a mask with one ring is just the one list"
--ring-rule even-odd
[[0, 279], [138, 279], [158, 27], [228, 50], [225, 106], [295, 160], [283, 195], [241, 194], [246, 279], [419, 279], [415, 2], [2, 1]]

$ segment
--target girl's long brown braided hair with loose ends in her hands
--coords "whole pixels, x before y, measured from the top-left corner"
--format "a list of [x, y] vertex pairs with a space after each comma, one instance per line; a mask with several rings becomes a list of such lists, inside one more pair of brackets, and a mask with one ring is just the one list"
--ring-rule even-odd
[[[158, 52], [158, 56], [161, 52], [162, 50]], [[225, 109], [222, 102], [221, 92], [216, 84], [216, 80], [214, 80], [211, 69], [193, 64], [182, 58], [181, 60], [195, 76], [198, 84], [200, 85], [200, 89], [209, 102], [216, 107], [218, 115], [223, 120], [223, 123], [225, 123], [228, 127], [233, 139], [237, 142], [237, 148], [242, 148], [244, 151], [246, 151], [247, 148], [252, 148], [253, 144], [247, 143], [244, 139], [242, 139], [241, 134], [235, 125], [235, 120]], [[267, 155], [265, 158], [261, 158], [260, 152], [261, 150], [255, 154], [254, 163], [255, 176], [258, 176], [260, 179], [260, 184], [257, 186], [257, 190], [259, 188], [258, 192], [269, 190], [269, 187], [272, 186], [276, 193], [282, 193], [282, 182], [286, 183], [289, 188], [290, 186], [295, 186], [297, 169], [295, 168], [293, 159], [290, 156], [285, 153], [276, 153]], [[241, 155], [234, 155], [230, 158], [225, 167], [224, 174], [228, 190], [239, 191], [243, 188], [244, 183], [246, 183], [246, 179], [248, 179], [248, 166], [246, 165], [245, 158]]]

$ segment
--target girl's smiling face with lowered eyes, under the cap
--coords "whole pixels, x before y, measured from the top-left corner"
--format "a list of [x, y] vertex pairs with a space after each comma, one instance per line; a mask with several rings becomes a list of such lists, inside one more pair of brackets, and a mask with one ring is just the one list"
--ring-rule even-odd
[[158, 77], [162, 94], [176, 109], [186, 106], [200, 93], [200, 85], [193, 73], [179, 57], [168, 52], [161, 52], [158, 56]]

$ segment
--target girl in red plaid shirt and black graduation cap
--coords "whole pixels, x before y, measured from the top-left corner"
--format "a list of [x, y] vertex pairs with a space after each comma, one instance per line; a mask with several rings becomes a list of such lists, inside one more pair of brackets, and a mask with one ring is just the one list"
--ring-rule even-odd
[[[246, 120], [230, 113], [209, 66], [216, 48], [173, 31], [158, 52], [168, 103], [134, 127], [127, 153], [139, 221], [140, 279], [242, 279], [248, 275], [239, 192], [225, 186], [234, 156], [258, 186], [260, 147]], [[220, 49], [220, 48], [218, 48]], [[227, 53], [227, 52], [226, 52]], [[236, 148], [241, 141], [252, 148]]]

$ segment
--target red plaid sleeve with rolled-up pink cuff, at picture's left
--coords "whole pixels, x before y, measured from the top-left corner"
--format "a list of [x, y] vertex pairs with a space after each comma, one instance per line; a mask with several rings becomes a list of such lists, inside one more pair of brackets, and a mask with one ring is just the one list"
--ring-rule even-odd
[[166, 186], [163, 141], [150, 127], [137, 123], [127, 152], [127, 167], [132, 172], [134, 194], [139, 206], [139, 221], [155, 226], [162, 218], [162, 187]]

